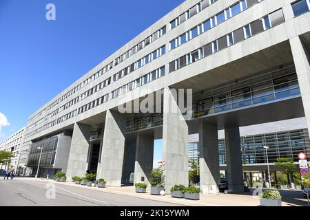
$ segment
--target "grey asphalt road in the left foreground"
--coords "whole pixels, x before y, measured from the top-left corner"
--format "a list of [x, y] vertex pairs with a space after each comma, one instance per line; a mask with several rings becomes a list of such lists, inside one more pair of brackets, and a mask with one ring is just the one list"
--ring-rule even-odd
[[0, 206], [179, 206], [52, 182], [2, 178]]

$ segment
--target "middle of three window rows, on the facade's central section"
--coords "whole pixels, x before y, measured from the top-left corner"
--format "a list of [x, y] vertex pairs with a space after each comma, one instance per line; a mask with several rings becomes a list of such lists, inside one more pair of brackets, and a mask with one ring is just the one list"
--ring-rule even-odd
[[163, 56], [165, 53], [166, 53], [166, 46], [163, 45], [157, 50], [154, 50], [154, 52], [147, 54], [147, 56], [139, 59], [135, 63], [132, 63], [132, 65], [114, 74], [112, 77], [112, 81], [115, 82], [116, 80], [119, 80], [120, 78], [123, 78], [124, 76], [127, 76], [127, 74], [130, 74], [134, 72], [136, 69], [139, 69], [140, 67], [143, 67], [144, 65], [147, 65], [147, 63], [154, 61], [156, 58]]

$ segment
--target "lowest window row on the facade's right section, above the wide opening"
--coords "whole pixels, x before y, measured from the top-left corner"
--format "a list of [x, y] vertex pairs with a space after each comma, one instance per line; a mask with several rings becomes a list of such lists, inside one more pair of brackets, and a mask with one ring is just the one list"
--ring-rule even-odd
[[180, 69], [194, 63], [201, 58], [205, 58], [211, 54], [214, 54], [220, 50], [223, 50], [231, 45], [239, 43], [245, 39], [248, 39], [255, 34], [258, 34], [264, 30], [268, 30], [269, 28], [273, 28], [274, 26], [282, 23], [285, 21], [282, 8], [277, 10], [276, 12], [272, 12], [267, 16], [263, 17], [262, 19], [258, 19], [249, 23], [248, 25], [235, 30], [203, 47], [200, 47], [198, 50], [194, 50], [193, 52], [181, 56], [180, 58], [176, 59], [169, 63], [169, 72], [174, 72], [176, 69]]

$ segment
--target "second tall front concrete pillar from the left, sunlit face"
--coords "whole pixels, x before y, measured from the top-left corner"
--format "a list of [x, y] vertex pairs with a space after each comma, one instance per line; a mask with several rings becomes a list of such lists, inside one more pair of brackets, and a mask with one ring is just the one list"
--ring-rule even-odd
[[107, 186], [121, 186], [125, 151], [126, 115], [107, 110], [101, 153], [99, 178]]

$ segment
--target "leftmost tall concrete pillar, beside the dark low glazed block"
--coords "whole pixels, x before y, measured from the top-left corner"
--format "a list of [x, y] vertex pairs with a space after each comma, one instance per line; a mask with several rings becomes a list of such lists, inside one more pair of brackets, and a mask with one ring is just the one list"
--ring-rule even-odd
[[74, 124], [68, 168], [65, 173], [70, 179], [78, 176], [84, 177], [88, 168], [90, 151], [90, 126], [85, 124]]

